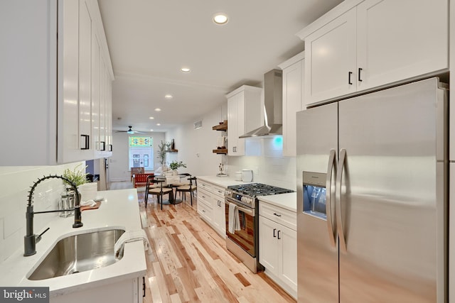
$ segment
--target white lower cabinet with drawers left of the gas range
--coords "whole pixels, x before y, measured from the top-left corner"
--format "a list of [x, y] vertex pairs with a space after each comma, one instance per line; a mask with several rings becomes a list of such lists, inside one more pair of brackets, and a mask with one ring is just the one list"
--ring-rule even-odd
[[198, 180], [198, 214], [223, 238], [226, 236], [225, 188]]

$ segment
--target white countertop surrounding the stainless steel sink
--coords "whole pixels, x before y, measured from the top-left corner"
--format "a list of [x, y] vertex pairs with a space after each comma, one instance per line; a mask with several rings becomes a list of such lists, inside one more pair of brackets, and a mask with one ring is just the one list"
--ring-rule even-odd
[[[146, 275], [146, 260], [142, 241], [126, 243], [121, 260], [105, 268], [78, 272], [74, 275], [53, 277], [45, 280], [28, 280], [27, 276], [38, 267], [48, 251], [61, 238], [77, 233], [89, 233], [106, 229], [119, 228], [125, 231], [141, 229], [139, 204], [136, 189], [121, 189], [98, 192], [97, 197], [104, 197], [99, 209], [82, 211], [84, 226], [73, 228], [74, 216], [58, 217], [50, 221], [50, 229], [43, 234], [36, 244], [36, 254], [23, 256], [23, 248], [18, 249], [0, 265], [0, 285], [23, 287], [49, 287], [50, 297], [68, 294], [77, 290], [107, 285], [113, 282], [130, 280]], [[39, 216], [37, 214], [36, 216]], [[25, 221], [25, 214], [23, 220]], [[34, 231], [39, 233], [40, 231]], [[23, 235], [25, 236], [25, 235]]]

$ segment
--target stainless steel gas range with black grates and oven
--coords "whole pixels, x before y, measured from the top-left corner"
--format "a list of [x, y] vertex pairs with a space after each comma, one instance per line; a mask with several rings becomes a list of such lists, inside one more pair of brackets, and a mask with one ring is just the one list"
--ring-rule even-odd
[[[259, 200], [257, 197], [288, 192], [294, 191], [262, 183], [232, 185], [226, 190], [226, 248], [252, 272], [264, 269], [259, 264]], [[238, 221], [234, 226], [232, 219], [235, 217]]]

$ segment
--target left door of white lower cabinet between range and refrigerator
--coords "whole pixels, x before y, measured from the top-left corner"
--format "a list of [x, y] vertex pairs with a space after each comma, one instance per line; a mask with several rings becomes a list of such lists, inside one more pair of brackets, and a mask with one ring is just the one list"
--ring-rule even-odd
[[278, 275], [279, 266], [277, 225], [274, 221], [259, 216], [259, 263], [274, 275]]

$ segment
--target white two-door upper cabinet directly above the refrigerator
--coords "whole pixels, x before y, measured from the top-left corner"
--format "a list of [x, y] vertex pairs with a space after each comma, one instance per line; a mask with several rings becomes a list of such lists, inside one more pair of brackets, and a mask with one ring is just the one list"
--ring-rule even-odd
[[444, 72], [447, 0], [344, 1], [307, 28], [305, 100], [336, 99]]

